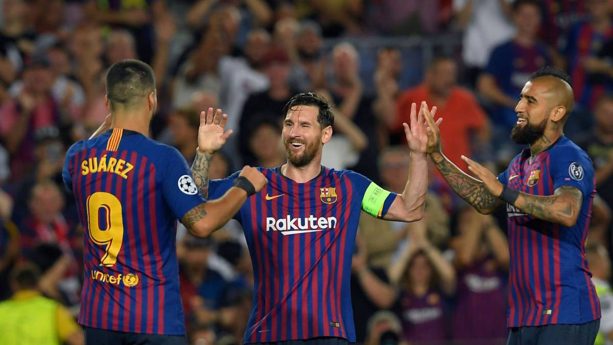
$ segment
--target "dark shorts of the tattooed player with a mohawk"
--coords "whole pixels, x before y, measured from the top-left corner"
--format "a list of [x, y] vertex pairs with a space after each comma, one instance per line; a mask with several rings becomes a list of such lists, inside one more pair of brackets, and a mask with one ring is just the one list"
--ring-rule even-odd
[[581, 325], [512, 327], [506, 345], [593, 345], [600, 319]]

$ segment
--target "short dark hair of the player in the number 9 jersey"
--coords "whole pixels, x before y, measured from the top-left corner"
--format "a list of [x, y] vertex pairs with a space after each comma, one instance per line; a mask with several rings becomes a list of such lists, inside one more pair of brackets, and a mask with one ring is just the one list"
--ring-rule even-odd
[[116, 104], [130, 107], [153, 91], [153, 69], [142, 61], [123, 60], [113, 64], [107, 72], [107, 96], [112, 109]]

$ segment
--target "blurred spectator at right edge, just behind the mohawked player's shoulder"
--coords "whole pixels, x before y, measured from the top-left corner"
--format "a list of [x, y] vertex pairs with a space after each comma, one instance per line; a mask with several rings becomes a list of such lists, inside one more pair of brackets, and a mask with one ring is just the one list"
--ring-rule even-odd
[[596, 192], [613, 207], [613, 96], [604, 95], [594, 109], [592, 133], [579, 146], [587, 152], [594, 165]]

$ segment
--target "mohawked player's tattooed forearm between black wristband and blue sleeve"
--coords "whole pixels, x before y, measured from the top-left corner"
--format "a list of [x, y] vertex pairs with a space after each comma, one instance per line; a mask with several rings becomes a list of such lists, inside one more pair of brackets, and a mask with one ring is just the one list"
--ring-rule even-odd
[[582, 200], [580, 190], [566, 185], [557, 188], [550, 196], [520, 192], [514, 206], [538, 219], [564, 225], [576, 222]]

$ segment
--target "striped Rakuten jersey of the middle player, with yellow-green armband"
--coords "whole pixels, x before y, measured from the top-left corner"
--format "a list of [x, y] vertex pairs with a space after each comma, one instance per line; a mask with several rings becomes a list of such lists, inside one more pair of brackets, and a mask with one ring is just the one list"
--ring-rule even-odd
[[[365, 211], [383, 217], [395, 194], [347, 170], [322, 167], [305, 183], [283, 176], [280, 168], [259, 170], [267, 187], [235, 215], [254, 270], [243, 342], [319, 336], [355, 342], [349, 277], [360, 211], [378, 201], [378, 210]], [[211, 180], [210, 198], [223, 195], [237, 176]]]

